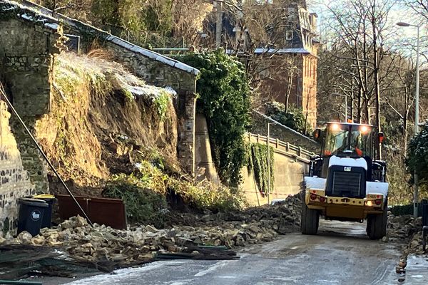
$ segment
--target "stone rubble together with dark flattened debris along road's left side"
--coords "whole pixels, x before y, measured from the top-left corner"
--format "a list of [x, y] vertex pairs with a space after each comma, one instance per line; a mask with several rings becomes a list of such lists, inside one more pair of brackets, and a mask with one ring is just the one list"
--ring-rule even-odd
[[[300, 195], [295, 195], [282, 204], [204, 214], [165, 229], [91, 227], [83, 217], [72, 217], [57, 227], [41, 229], [36, 237], [21, 232], [17, 237], [0, 238], [0, 279], [35, 273], [75, 276], [161, 258], [233, 259], [235, 252], [228, 249], [269, 242], [278, 234], [295, 231], [300, 207]], [[29, 258], [20, 258], [26, 254]]]

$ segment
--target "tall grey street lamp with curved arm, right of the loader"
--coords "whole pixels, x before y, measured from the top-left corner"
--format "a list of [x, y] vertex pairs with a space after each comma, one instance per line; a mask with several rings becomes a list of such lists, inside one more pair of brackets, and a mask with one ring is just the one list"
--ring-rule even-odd
[[[419, 133], [419, 26], [398, 22], [397, 26], [416, 27], [417, 28], [417, 44], [416, 44], [416, 88], [414, 88], [414, 135]], [[414, 193], [413, 193], [413, 216], [417, 217], [417, 204], [419, 189], [419, 180], [416, 171], [414, 172]]]

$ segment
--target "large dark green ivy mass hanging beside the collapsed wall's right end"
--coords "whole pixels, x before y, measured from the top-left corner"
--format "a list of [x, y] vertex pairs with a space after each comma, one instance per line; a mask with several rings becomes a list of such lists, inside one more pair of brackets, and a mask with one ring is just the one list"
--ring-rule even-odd
[[208, 121], [220, 180], [237, 188], [246, 161], [244, 134], [250, 124], [250, 86], [245, 67], [222, 50], [190, 53], [178, 59], [200, 70], [197, 110]]

